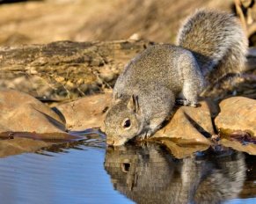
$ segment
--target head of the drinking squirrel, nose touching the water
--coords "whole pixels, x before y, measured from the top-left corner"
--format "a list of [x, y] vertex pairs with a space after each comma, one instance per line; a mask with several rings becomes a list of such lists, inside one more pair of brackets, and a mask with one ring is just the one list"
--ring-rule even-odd
[[106, 143], [119, 146], [139, 134], [141, 110], [134, 95], [117, 99], [106, 114]]

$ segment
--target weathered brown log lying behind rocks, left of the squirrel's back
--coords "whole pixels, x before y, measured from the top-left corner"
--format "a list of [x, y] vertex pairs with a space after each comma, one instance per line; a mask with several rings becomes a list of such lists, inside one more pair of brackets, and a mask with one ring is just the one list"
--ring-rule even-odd
[[74, 98], [112, 86], [149, 41], [72, 42], [0, 48], [0, 87], [35, 97]]

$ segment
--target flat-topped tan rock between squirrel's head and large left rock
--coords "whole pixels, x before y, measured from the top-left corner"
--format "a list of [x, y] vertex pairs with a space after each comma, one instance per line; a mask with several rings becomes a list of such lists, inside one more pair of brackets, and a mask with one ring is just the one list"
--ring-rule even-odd
[[98, 94], [62, 104], [56, 108], [65, 118], [69, 130], [101, 127], [104, 131], [104, 120], [111, 97], [111, 93]]

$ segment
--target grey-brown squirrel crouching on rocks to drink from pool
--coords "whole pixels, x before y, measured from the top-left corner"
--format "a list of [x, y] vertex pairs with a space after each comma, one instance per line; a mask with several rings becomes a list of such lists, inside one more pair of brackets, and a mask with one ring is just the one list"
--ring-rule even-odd
[[233, 15], [201, 9], [179, 29], [177, 45], [161, 44], [135, 56], [117, 78], [106, 113], [106, 142], [119, 146], [153, 135], [175, 102], [197, 106], [201, 91], [245, 69], [248, 42]]

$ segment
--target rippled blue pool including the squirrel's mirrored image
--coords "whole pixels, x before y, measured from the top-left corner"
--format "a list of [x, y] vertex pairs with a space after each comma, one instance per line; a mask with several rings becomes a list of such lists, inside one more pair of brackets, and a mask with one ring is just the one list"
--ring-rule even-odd
[[152, 143], [50, 150], [0, 159], [1, 203], [256, 203], [256, 158], [244, 153], [180, 160]]

